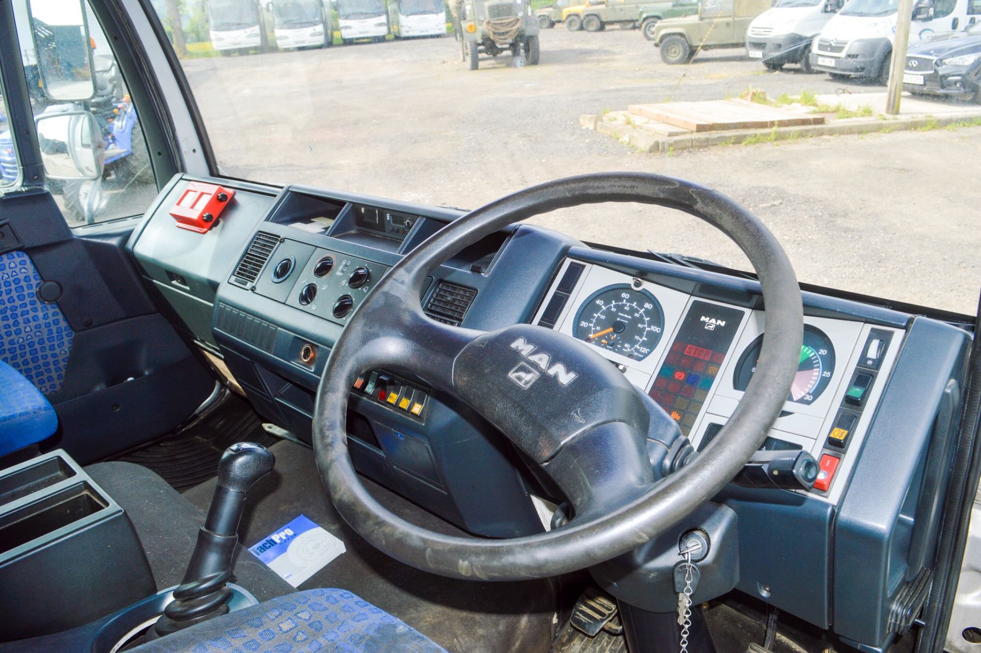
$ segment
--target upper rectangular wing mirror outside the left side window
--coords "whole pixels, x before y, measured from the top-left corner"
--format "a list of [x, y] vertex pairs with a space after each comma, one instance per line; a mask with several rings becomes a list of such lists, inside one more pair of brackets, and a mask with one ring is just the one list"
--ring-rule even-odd
[[92, 99], [95, 95], [93, 43], [81, 2], [30, 0], [27, 11], [44, 94], [56, 102]]

